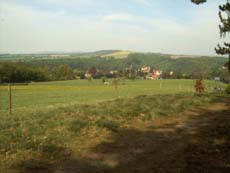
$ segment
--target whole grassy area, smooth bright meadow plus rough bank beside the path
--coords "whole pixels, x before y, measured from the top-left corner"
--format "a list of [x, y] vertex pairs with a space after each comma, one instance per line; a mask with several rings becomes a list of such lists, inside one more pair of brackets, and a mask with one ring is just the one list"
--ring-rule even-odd
[[206, 94], [194, 95], [193, 85], [193, 80], [127, 80], [118, 93], [101, 80], [13, 86], [12, 115], [6, 111], [7, 87], [1, 86], [0, 170], [49, 168], [71, 152], [109, 140], [118, 128], [209, 104], [215, 99], [211, 88], [225, 87], [205, 81]]

